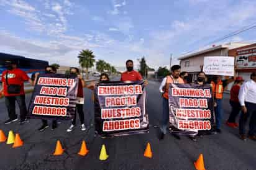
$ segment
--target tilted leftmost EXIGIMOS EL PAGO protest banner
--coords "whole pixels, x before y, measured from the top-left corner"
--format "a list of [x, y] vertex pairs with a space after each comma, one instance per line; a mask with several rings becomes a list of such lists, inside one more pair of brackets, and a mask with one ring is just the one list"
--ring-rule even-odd
[[66, 74], [40, 74], [30, 104], [30, 119], [73, 119], [78, 78]]

